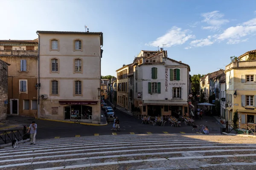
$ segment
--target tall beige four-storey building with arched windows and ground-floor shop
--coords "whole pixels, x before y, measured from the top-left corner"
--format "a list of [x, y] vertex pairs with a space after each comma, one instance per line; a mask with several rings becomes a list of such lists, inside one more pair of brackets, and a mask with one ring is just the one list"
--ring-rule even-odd
[[39, 116], [100, 123], [101, 32], [37, 31]]

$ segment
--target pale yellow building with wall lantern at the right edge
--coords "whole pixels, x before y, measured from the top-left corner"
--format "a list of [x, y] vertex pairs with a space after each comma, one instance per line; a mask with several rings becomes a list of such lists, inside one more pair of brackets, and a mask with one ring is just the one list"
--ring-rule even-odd
[[256, 50], [248, 51], [225, 68], [226, 120], [233, 124], [238, 114], [239, 125], [256, 123]]

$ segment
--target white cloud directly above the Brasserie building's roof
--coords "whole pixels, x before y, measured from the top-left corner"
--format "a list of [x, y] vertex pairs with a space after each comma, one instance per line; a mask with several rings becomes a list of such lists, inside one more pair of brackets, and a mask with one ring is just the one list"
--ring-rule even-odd
[[178, 27], [172, 27], [162, 37], [158, 37], [153, 42], [146, 43], [145, 45], [157, 47], [165, 44], [166, 47], [172, 47], [173, 45], [184, 44], [187, 40], [195, 38], [195, 35], [189, 34], [190, 30], [182, 30]]

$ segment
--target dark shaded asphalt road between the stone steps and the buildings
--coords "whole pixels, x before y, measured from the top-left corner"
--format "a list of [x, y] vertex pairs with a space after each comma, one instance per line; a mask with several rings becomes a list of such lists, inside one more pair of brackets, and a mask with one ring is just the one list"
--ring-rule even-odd
[[[120, 120], [121, 131], [112, 131], [113, 122], [105, 126], [89, 126], [89, 125], [79, 125], [73, 123], [64, 122], [52, 122], [44, 120], [36, 120], [38, 125], [38, 132], [36, 135], [37, 139], [50, 139], [59, 136], [63, 137], [74, 137], [76, 135], [80, 136], [94, 136], [95, 133], [99, 135], [112, 135], [113, 132], [119, 134], [130, 134], [131, 132], [135, 134], [147, 134], [151, 133], [192, 133], [192, 126], [185, 126], [182, 122], [181, 127], [171, 127], [166, 123], [163, 126], [153, 126], [141, 124], [141, 120], [135, 119], [131, 116], [126, 115], [118, 110], [116, 110], [116, 116]], [[198, 122], [195, 121], [196, 125], [207, 125], [210, 133], [220, 133], [221, 125], [215, 122], [215, 119], [211, 116], [204, 116], [203, 120]]]

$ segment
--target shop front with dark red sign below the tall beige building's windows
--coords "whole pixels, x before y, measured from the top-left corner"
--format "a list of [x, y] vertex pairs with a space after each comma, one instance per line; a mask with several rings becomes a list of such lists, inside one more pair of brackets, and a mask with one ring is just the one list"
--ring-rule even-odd
[[97, 105], [97, 101], [59, 101], [64, 105], [64, 119], [81, 119], [82, 122], [92, 122], [93, 105]]

